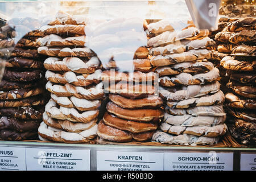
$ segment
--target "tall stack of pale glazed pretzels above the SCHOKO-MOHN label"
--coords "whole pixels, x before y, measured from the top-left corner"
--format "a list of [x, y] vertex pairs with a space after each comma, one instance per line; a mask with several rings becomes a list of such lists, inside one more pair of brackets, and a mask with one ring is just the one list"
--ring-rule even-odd
[[159, 74], [164, 118], [152, 140], [169, 144], [214, 144], [227, 130], [219, 71], [208, 61], [215, 42], [192, 22], [163, 19], [148, 24], [151, 64]]

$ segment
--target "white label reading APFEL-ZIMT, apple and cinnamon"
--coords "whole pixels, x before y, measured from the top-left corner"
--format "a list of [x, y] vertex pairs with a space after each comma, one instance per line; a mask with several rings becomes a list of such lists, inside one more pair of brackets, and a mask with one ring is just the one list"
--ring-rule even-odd
[[90, 150], [27, 148], [28, 171], [89, 171]]

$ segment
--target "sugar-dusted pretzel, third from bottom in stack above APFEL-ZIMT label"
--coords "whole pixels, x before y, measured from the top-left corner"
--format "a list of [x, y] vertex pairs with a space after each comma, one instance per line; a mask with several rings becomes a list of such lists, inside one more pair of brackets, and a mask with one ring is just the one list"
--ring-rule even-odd
[[89, 110], [79, 113], [74, 108], [57, 107], [57, 104], [51, 99], [46, 104], [46, 113], [51, 118], [68, 120], [72, 122], [88, 123], [97, 118], [99, 110]]

